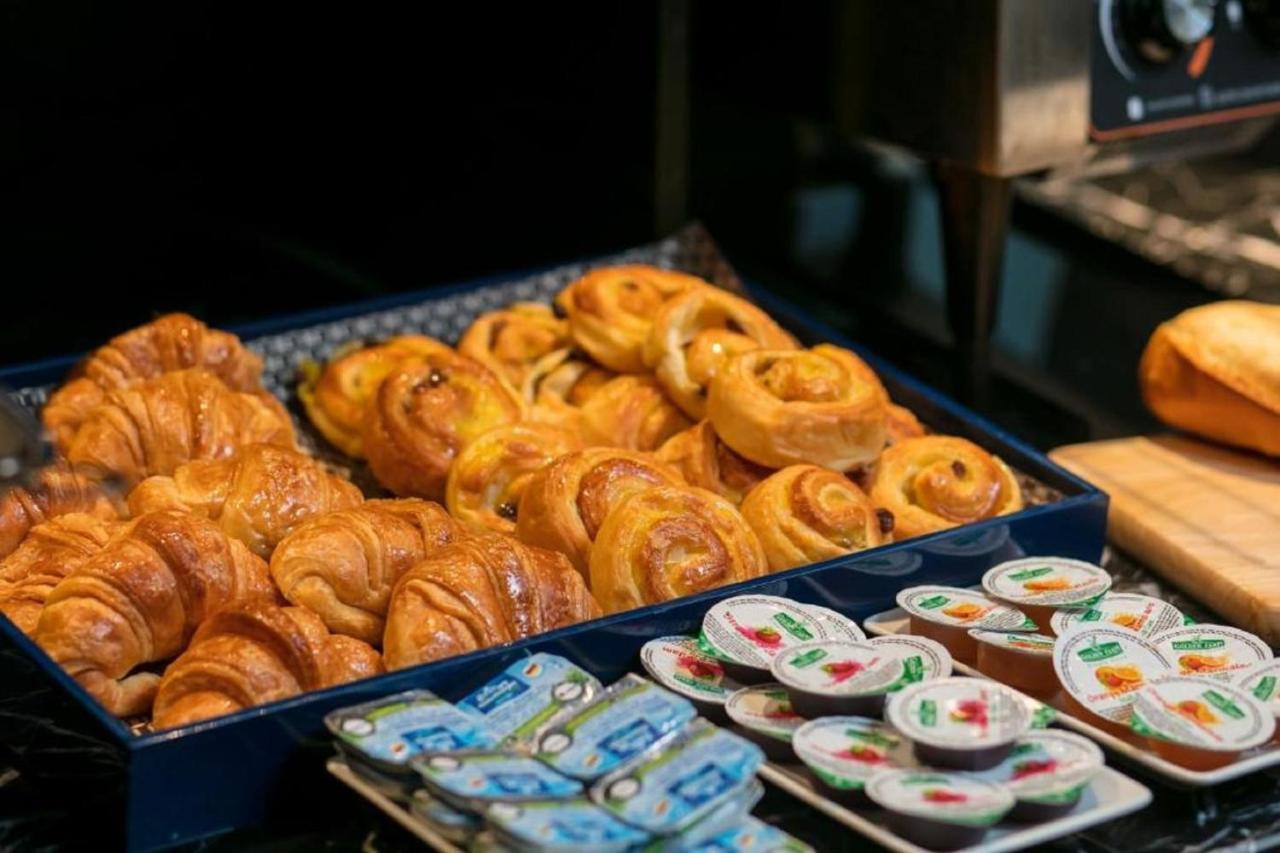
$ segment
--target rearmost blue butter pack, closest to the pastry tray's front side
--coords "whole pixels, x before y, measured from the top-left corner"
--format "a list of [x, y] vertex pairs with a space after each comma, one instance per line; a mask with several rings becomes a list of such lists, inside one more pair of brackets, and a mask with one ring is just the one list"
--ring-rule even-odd
[[516, 661], [458, 702], [507, 744], [522, 744], [568, 710], [591, 702], [602, 685], [556, 654]]

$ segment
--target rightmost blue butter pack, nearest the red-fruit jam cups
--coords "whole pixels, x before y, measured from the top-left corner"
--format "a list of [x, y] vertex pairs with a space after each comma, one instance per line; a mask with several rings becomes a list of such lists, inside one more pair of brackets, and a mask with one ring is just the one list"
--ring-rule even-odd
[[705, 720], [628, 767], [599, 780], [591, 798], [632, 826], [672, 835], [750, 785], [764, 753]]

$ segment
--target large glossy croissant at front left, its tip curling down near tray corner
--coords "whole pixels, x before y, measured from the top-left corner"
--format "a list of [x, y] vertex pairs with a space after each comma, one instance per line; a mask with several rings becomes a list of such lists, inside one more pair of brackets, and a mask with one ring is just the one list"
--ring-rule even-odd
[[210, 615], [275, 597], [266, 564], [209, 519], [151, 512], [49, 594], [35, 640], [116, 716], [145, 713], [160, 676]]

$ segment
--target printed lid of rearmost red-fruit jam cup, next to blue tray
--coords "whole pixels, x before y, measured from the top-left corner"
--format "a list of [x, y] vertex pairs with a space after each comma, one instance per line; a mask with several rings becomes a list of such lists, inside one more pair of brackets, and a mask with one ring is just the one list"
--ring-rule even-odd
[[707, 612], [703, 637], [721, 657], [767, 670], [780, 651], [827, 639], [828, 629], [805, 605], [776, 596], [739, 596]]

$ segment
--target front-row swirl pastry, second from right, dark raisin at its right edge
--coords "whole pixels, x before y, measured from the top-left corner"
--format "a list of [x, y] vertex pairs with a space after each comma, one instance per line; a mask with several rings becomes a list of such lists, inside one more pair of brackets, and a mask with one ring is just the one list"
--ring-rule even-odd
[[742, 501], [769, 569], [781, 571], [831, 560], [890, 540], [893, 516], [841, 474], [817, 465], [791, 465]]

